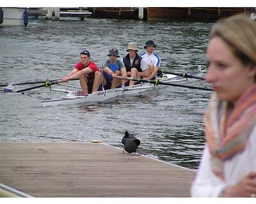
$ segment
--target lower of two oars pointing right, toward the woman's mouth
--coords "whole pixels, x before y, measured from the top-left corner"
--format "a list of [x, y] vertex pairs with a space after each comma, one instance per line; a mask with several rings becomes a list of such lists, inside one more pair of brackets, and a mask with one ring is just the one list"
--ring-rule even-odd
[[121, 78], [122, 80], [132, 80], [132, 81], [136, 81], [136, 82], [147, 82], [147, 83], [154, 84], [154, 85], [163, 84], [163, 85], [172, 85], [175, 87], [184, 87], [184, 88], [189, 88], [189, 89], [200, 89], [200, 90], [205, 90], [205, 91], [213, 91], [212, 89], [208, 89], [208, 88], [194, 87], [191, 85], [174, 84], [174, 83], [168, 83], [168, 82], [161, 82], [160, 80], [145, 80], [142, 78], [120, 77], [120, 76], [117, 76], [116, 78]]

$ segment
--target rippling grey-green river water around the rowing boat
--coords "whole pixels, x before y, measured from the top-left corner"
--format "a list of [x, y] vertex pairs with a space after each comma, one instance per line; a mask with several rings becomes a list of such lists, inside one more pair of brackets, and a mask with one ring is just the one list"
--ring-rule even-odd
[[[63, 19], [63, 18], [62, 18]], [[28, 27], [0, 27], [0, 78], [20, 82], [61, 78], [90, 50], [99, 66], [110, 47], [127, 54], [127, 43], [154, 40], [161, 67], [192, 72], [205, 66], [207, 36], [212, 24], [199, 22], [142, 22], [136, 20], [65, 18], [30, 20]], [[192, 85], [207, 86], [197, 81]], [[168, 163], [198, 168], [204, 147], [204, 111], [211, 96], [159, 85], [143, 96], [115, 98], [97, 105], [43, 108], [42, 99], [58, 94], [36, 89], [28, 94], [0, 92], [0, 140], [13, 142], [88, 142], [122, 147], [128, 130], [141, 140], [138, 152]], [[3, 87], [1, 87], [1, 90]]]

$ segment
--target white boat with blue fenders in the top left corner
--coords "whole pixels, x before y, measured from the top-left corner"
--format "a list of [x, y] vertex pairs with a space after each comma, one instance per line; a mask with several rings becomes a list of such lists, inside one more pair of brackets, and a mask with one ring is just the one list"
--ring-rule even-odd
[[26, 8], [1, 7], [0, 25], [28, 25], [28, 11]]

